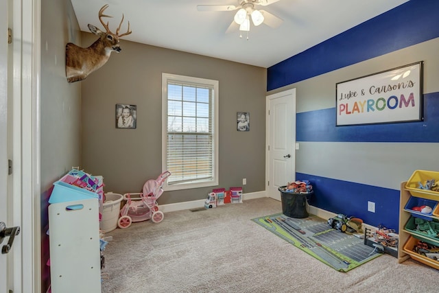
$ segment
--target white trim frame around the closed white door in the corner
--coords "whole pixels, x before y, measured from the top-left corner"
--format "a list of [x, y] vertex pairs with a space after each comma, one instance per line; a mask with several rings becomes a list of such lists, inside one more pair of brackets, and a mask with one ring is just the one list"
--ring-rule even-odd
[[[285, 95], [292, 95], [293, 97], [293, 107], [294, 107], [294, 113], [292, 113], [292, 120], [296, 121], [296, 88], [294, 89], [288, 89], [285, 91], [281, 91], [279, 93], [274, 93], [272, 95], [267, 95], [265, 99], [265, 195], [272, 198], [269, 194], [269, 186], [268, 186], [268, 180], [270, 179], [270, 160], [271, 160], [271, 152], [268, 150], [268, 146], [270, 145], [270, 100], [276, 99], [278, 97], [283, 97]], [[296, 123], [294, 123], [293, 128], [293, 141], [294, 145], [296, 144]], [[296, 148], [292, 145], [292, 156], [294, 158], [294, 166], [293, 166], [293, 176], [296, 176]]]

